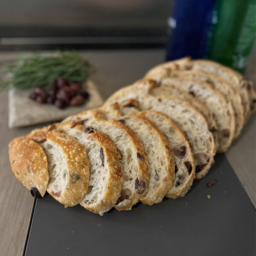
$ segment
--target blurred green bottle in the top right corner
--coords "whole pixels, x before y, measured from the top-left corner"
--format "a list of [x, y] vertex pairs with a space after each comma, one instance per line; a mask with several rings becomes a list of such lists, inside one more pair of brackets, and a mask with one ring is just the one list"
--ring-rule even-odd
[[217, 0], [206, 58], [243, 73], [256, 35], [256, 0]]

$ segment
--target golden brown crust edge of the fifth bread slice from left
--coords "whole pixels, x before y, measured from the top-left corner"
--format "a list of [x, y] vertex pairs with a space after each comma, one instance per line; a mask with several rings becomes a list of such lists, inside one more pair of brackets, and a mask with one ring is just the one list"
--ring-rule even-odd
[[145, 122], [148, 126], [152, 128], [152, 130], [154, 131], [154, 133], [157, 134], [160, 140], [160, 144], [163, 149], [162, 154], [165, 156], [166, 160], [166, 176], [163, 178], [162, 183], [160, 183], [160, 186], [157, 187], [157, 189], [154, 189], [153, 195], [145, 193], [142, 196], [142, 198], [140, 198], [140, 201], [143, 202], [143, 204], [152, 205], [160, 203], [163, 200], [166, 193], [168, 192], [168, 190], [172, 187], [172, 182], [175, 176], [175, 165], [172, 149], [169, 147], [169, 142], [166, 139], [166, 137], [157, 129], [153, 122], [144, 118], [143, 116], [128, 115], [128, 117], [143, 120], [143, 122]]

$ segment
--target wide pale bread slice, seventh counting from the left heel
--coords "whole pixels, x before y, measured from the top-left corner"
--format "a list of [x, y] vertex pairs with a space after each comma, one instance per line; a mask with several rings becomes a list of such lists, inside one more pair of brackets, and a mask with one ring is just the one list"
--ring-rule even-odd
[[195, 158], [195, 178], [202, 178], [207, 174], [213, 163], [215, 143], [212, 133], [204, 116], [186, 100], [176, 96], [151, 96], [149, 91], [157, 86], [155, 81], [141, 80], [134, 85], [124, 87], [110, 96], [104, 105], [133, 99], [139, 102], [140, 110], [155, 110], [169, 116], [185, 134], [192, 145]]

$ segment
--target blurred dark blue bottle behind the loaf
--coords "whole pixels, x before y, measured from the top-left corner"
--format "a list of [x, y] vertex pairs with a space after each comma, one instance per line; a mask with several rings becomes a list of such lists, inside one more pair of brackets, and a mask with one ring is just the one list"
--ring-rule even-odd
[[168, 19], [166, 60], [190, 56], [203, 58], [207, 51], [215, 0], [174, 0]]

